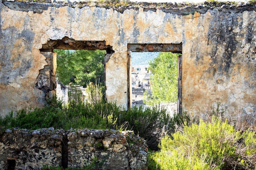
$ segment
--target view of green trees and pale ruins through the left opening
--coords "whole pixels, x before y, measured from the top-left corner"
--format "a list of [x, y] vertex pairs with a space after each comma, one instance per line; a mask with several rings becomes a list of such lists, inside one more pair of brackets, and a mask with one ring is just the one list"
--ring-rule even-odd
[[[57, 67], [57, 96], [68, 102], [68, 97], [76, 99], [77, 93], [81, 93], [83, 102], [89, 102], [88, 88], [96, 87], [99, 90], [97, 98], [104, 98], [105, 76], [104, 57], [106, 50], [63, 50], [54, 49], [56, 53]], [[66, 97], [59, 94], [59, 84], [65, 85], [71, 93]], [[95, 89], [96, 89], [95, 88]], [[76, 99], [79, 102], [79, 99]], [[90, 101], [91, 102], [91, 101]], [[97, 101], [95, 101], [97, 102]]]

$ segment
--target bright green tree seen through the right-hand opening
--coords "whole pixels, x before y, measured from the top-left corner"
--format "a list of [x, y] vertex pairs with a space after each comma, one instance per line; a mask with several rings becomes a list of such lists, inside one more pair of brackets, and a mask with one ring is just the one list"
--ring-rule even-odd
[[150, 86], [152, 96], [146, 91], [148, 104], [159, 104], [160, 102], [177, 102], [177, 56], [179, 54], [163, 52], [159, 53], [149, 63], [148, 70], [152, 71]]

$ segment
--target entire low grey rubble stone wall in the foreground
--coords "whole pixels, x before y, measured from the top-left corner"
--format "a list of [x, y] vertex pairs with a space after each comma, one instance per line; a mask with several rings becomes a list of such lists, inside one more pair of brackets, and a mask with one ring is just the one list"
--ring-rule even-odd
[[[7, 129], [0, 135], [0, 169], [40, 170], [44, 165], [147, 170], [146, 142], [131, 131]], [[97, 161], [95, 161], [97, 160]]]

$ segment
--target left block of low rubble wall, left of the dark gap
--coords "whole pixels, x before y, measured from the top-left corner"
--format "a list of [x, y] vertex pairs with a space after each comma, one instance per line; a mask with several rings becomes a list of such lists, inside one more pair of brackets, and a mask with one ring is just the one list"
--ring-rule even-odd
[[61, 166], [63, 132], [51, 129], [6, 130], [0, 136], [0, 169], [39, 170], [45, 163]]

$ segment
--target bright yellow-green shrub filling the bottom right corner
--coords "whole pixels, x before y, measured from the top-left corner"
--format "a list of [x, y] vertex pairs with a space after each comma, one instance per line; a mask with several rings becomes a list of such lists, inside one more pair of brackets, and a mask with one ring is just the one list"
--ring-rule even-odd
[[236, 131], [227, 121], [184, 126], [161, 140], [161, 151], [149, 155], [151, 170], [254, 170], [255, 131]]

